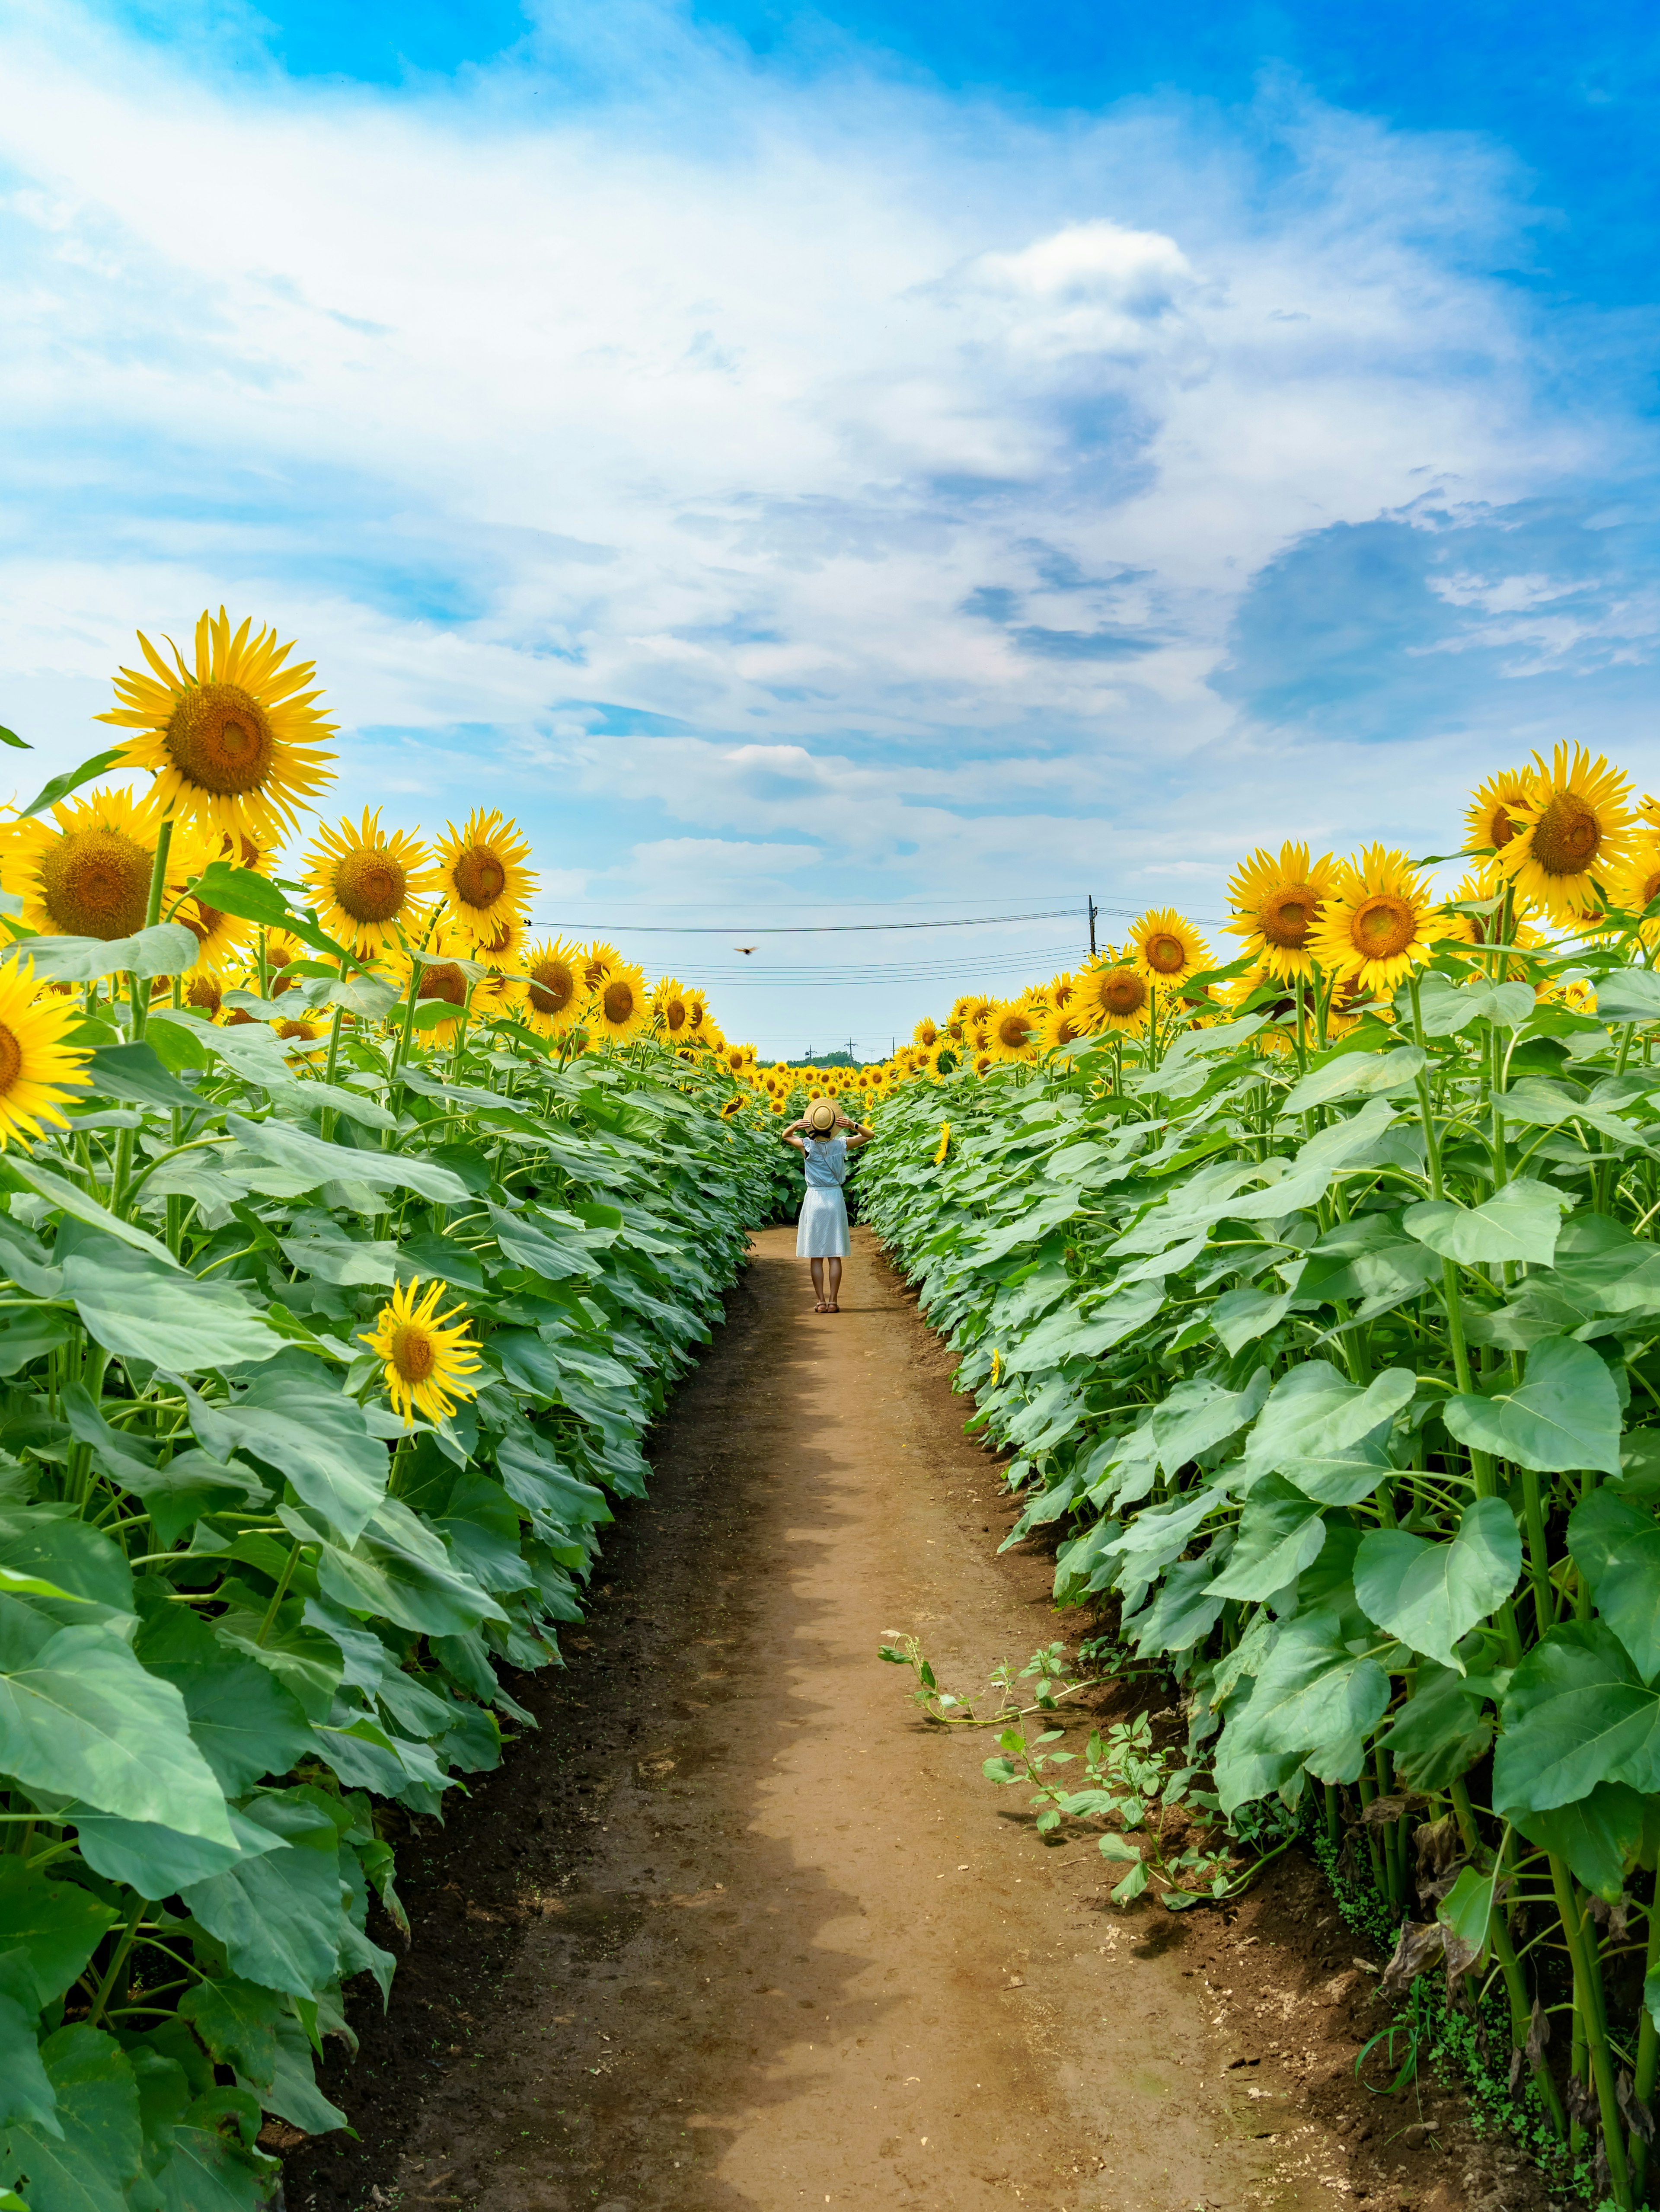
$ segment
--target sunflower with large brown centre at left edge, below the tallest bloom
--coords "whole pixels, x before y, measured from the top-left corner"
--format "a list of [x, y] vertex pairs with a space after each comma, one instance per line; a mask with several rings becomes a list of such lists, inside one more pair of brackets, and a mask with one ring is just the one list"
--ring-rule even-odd
[[[9, 825], [0, 880], [22, 898], [22, 918], [44, 938], [130, 938], [150, 905], [161, 810], [128, 792], [95, 792], [51, 810], [51, 821]], [[181, 854], [183, 860], [183, 854]], [[183, 891], [168, 860], [164, 898]]]

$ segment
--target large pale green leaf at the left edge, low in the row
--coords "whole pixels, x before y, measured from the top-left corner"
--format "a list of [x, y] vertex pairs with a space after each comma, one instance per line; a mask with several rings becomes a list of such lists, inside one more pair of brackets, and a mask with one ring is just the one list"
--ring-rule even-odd
[[106, 1626], [60, 1628], [33, 1659], [0, 1674], [0, 1772], [126, 1820], [232, 1840], [183, 1699]]

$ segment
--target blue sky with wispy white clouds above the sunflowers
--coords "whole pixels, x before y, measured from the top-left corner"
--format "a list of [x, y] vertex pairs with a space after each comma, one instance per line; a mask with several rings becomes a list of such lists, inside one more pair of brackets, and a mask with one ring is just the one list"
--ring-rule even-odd
[[0, 60], [46, 765], [225, 599], [343, 805], [515, 810], [542, 918], [763, 1051], [1079, 936], [769, 920], [1218, 916], [1534, 745], [1660, 783], [1633, 7], [13, 0]]

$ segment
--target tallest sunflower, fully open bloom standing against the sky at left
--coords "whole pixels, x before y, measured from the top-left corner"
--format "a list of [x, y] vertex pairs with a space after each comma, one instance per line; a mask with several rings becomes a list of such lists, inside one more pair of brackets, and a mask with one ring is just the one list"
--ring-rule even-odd
[[332, 737], [334, 723], [316, 710], [323, 695], [305, 688], [314, 664], [285, 668], [294, 646], [279, 646], [276, 630], [250, 639], [250, 626], [243, 622], [232, 637], [223, 606], [217, 622], [203, 611], [195, 675], [177, 646], [168, 668], [139, 630], [153, 675], [124, 668], [115, 679], [119, 706], [97, 721], [139, 732], [126, 741], [122, 765], [155, 774], [164, 814], [281, 845], [298, 807], [329, 781], [325, 763], [334, 754], [318, 752], [316, 741]]

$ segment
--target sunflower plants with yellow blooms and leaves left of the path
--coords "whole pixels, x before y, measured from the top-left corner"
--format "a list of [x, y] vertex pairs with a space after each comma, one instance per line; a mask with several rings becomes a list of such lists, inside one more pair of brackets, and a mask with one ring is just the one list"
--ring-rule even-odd
[[309, 664], [141, 646], [124, 741], [0, 818], [13, 2212], [263, 2205], [267, 2115], [343, 2124], [396, 1836], [533, 1725], [789, 1181], [696, 993], [526, 942], [511, 821], [314, 825], [285, 880]]

